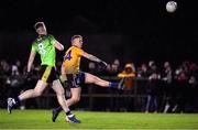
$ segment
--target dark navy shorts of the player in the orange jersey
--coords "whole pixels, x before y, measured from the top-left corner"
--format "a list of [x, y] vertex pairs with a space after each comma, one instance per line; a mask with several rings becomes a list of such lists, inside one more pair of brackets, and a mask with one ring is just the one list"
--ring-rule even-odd
[[85, 84], [85, 73], [82, 72], [79, 72], [78, 74], [66, 74], [66, 77], [70, 88], [77, 88]]

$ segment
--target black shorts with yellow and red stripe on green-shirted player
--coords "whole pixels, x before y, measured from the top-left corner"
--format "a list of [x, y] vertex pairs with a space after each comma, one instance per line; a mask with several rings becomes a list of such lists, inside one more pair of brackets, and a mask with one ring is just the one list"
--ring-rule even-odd
[[54, 66], [42, 65], [41, 66], [40, 79], [45, 82], [45, 83], [48, 83], [48, 84], [51, 84], [54, 80], [58, 79], [55, 67]]

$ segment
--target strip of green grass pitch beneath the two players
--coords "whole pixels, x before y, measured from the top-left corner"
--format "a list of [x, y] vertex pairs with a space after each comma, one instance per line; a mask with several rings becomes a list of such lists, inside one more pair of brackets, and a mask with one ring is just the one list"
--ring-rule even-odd
[[82, 121], [64, 121], [62, 112], [51, 121], [52, 110], [13, 110], [8, 115], [0, 109], [0, 129], [198, 129], [198, 113], [136, 113], [74, 111]]

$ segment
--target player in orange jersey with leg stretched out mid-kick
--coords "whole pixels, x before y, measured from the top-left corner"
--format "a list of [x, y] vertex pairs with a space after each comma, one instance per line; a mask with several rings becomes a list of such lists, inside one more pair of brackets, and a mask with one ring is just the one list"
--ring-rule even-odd
[[[74, 35], [72, 37], [72, 46], [66, 51], [64, 62], [62, 65], [62, 76], [67, 79], [67, 84], [70, 86], [72, 97], [65, 102], [69, 107], [75, 105], [80, 99], [81, 87], [80, 84], [96, 84], [101, 87], [112, 87], [122, 89], [123, 79], [120, 83], [111, 83], [103, 80], [92, 74], [80, 72], [80, 58], [86, 57], [92, 62], [100, 64], [102, 67], [107, 67], [107, 63], [100, 58], [85, 52], [82, 47], [82, 36]], [[58, 113], [62, 111], [62, 107], [53, 110], [53, 121], [56, 120]]]

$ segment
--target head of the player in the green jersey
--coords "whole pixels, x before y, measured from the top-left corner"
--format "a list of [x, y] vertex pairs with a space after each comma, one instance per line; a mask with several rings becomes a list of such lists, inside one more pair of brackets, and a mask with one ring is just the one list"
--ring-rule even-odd
[[36, 22], [34, 24], [34, 29], [38, 35], [46, 35], [47, 34], [46, 26], [45, 26], [44, 22]]

